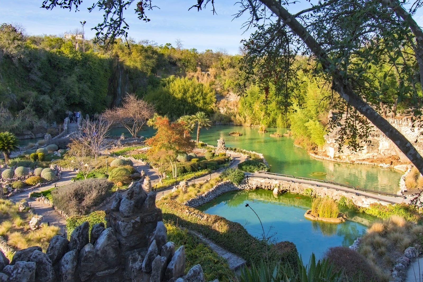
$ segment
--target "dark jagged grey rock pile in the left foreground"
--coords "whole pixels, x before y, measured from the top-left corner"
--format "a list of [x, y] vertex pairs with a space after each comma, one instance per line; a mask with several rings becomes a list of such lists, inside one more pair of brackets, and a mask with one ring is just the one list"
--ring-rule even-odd
[[107, 228], [88, 221], [68, 241], [57, 235], [46, 253], [33, 246], [9, 260], [0, 252], [0, 281], [160, 282], [204, 281], [201, 265], [185, 271], [185, 248], [168, 242], [156, 192], [134, 182], [126, 196], [117, 194], [106, 211]]

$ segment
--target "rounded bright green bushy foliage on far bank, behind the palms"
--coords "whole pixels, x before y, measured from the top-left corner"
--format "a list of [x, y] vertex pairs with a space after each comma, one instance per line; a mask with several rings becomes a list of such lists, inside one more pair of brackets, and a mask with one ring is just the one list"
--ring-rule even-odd
[[154, 102], [157, 113], [171, 119], [198, 111], [210, 112], [216, 102], [215, 91], [209, 84], [175, 76], [162, 79], [161, 86], [149, 90], [144, 99]]

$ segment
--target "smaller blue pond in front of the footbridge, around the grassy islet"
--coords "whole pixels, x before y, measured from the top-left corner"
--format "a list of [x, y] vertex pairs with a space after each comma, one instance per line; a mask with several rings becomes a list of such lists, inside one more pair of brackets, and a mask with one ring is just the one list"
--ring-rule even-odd
[[272, 236], [273, 242], [295, 243], [305, 261], [312, 252], [316, 257], [321, 257], [331, 246], [351, 246], [365, 232], [366, 225], [376, 219], [341, 207], [341, 212], [346, 213], [352, 221], [341, 224], [310, 221], [304, 217], [311, 207], [310, 197], [286, 193], [275, 198], [272, 191], [263, 189], [228, 192], [198, 209], [238, 222], [248, 233], [262, 238], [260, 221], [245, 204], [250, 205], [260, 217], [266, 237]]

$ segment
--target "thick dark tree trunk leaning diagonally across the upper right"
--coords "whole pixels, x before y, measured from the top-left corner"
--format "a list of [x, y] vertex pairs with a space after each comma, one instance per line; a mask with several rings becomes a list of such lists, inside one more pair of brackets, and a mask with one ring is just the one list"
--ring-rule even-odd
[[[330, 69], [327, 54], [317, 43], [316, 39], [302, 26], [297, 19], [291, 15], [282, 5], [275, 0], [260, 0], [267, 6], [277, 17], [279, 17], [291, 30], [299, 36], [308, 48], [320, 59], [323, 69]], [[423, 158], [419, 152], [413, 147], [410, 141], [404, 137], [392, 124], [382, 118], [373, 108], [363, 101], [354, 93], [351, 84], [346, 81], [339, 73], [338, 69], [332, 72], [333, 89], [346, 100], [350, 105], [357, 109], [371, 123], [379, 128], [385, 135], [393, 141], [394, 144], [407, 156], [407, 158], [415, 165], [415, 167], [423, 173]]]

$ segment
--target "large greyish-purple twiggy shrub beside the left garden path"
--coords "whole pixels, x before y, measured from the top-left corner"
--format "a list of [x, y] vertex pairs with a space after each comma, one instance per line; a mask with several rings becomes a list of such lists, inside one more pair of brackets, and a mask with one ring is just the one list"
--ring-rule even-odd
[[79, 180], [53, 190], [53, 204], [70, 216], [81, 216], [99, 205], [112, 187], [113, 182], [104, 178]]

